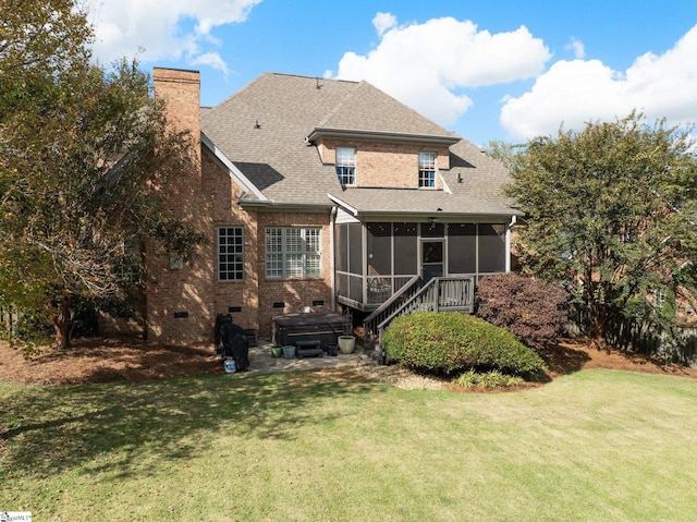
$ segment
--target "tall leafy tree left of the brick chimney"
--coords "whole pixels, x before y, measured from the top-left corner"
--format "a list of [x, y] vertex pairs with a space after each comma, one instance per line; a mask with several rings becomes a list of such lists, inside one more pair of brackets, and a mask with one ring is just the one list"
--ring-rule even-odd
[[23, 13], [0, 25], [0, 306], [39, 313], [69, 347], [75, 300], [138, 290], [146, 240], [185, 258], [201, 240], [162, 205], [189, 139], [137, 63], [89, 63], [71, 1], [0, 1]]

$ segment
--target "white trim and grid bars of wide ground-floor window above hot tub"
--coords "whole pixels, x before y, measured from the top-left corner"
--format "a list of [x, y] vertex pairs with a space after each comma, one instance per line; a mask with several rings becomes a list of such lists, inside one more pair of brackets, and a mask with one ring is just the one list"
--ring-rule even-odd
[[[301, 251], [299, 252], [291, 252], [289, 248], [289, 231], [297, 231], [301, 232]], [[270, 238], [272, 235], [272, 231], [280, 231], [281, 244], [280, 250], [278, 252], [269, 252], [269, 247], [271, 246]], [[317, 243], [318, 250], [311, 251], [308, 250], [308, 241], [307, 234], [309, 231], [317, 232]], [[278, 246], [278, 245], [277, 245]], [[322, 229], [321, 227], [267, 227], [265, 229], [265, 275], [267, 279], [314, 279], [322, 277]], [[291, 272], [291, 267], [289, 263], [289, 258], [292, 255], [301, 256], [301, 269], [302, 274], [297, 275], [289, 275]], [[272, 258], [273, 256], [273, 258]], [[317, 269], [317, 274], [308, 275], [308, 257], [309, 256], [318, 256], [319, 257], [319, 266]], [[279, 263], [280, 260], [280, 275], [278, 274], [279, 268], [273, 268], [270, 271], [271, 262]]]

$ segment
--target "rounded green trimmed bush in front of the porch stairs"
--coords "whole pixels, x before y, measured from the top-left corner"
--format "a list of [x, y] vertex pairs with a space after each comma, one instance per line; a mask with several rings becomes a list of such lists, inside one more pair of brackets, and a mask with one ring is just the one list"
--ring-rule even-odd
[[457, 313], [417, 312], [398, 317], [383, 336], [388, 356], [419, 369], [451, 373], [496, 368], [511, 374], [545, 372], [545, 363], [512, 333]]

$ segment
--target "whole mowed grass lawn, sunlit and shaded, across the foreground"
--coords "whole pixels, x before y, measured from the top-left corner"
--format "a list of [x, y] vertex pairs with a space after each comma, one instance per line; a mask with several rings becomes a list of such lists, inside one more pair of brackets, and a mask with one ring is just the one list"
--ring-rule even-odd
[[513, 393], [348, 372], [0, 384], [0, 510], [34, 520], [690, 520], [692, 379]]

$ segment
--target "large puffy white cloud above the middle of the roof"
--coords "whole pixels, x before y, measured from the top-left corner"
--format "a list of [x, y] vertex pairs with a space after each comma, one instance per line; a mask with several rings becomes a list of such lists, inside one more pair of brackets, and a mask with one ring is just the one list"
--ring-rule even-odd
[[461, 89], [535, 77], [551, 57], [525, 26], [491, 34], [452, 17], [398, 26], [389, 13], [374, 25], [378, 46], [367, 56], [346, 52], [337, 76], [366, 80], [442, 125], [472, 106]]

